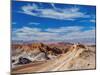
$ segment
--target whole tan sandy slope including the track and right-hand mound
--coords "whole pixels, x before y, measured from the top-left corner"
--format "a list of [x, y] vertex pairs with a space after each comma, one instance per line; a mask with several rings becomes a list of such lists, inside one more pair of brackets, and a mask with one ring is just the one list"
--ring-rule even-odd
[[95, 69], [95, 48], [74, 48], [56, 59], [16, 67], [12, 73], [33, 73], [77, 69]]

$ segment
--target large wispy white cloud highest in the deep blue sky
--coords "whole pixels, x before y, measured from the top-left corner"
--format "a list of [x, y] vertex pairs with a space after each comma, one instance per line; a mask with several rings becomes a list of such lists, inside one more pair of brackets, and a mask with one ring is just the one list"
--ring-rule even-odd
[[[46, 17], [53, 19], [64, 19], [64, 20], [74, 20], [76, 18], [87, 18], [90, 17], [86, 13], [80, 11], [79, 8], [57, 8], [54, 4], [51, 4], [53, 8], [42, 9], [36, 4], [28, 4], [21, 7], [20, 13], [24, 13], [31, 16]], [[35, 11], [35, 12], [34, 12]]]

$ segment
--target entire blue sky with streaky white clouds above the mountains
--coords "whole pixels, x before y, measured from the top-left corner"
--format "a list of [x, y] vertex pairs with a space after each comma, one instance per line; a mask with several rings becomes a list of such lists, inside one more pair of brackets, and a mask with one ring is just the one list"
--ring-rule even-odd
[[12, 1], [12, 39], [95, 39], [96, 7]]

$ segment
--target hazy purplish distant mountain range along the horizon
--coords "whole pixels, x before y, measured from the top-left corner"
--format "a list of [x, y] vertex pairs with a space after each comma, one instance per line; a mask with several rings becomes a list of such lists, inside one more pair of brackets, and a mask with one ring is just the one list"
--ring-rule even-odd
[[95, 44], [96, 39], [95, 38], [82, 38], [82, 39], [70, 39], [70, 40], [43, 40], [43, 41], [38, 41], [38, 40], [31, 40], [31, 41], [23, 41], [23, 40], [12, 40], [12, 44], [27, 44], [27, 43], [37, 43], [37, 42], [43, 42], [43, 43], [48, 43], [48, 44], [54, 44], [54, 43], [82, 43], [82, 44]]

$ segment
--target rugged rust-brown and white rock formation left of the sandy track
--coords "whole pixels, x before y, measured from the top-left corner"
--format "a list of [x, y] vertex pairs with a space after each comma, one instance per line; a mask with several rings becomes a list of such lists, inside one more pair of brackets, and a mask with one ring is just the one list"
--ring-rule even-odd
[[59, 54], [63, 53], [63, 49], [50, 47], [43, 43], [33, 43], [27, 45], [12, 46], [12, 64], [21, 65], [34, 61], [45, 61], [55, 59]]

